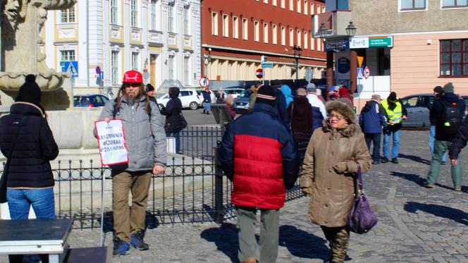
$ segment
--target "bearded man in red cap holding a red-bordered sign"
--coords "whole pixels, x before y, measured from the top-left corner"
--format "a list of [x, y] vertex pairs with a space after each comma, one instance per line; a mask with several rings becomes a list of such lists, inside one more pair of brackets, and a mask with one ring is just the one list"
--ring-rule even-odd
[[127, 254], [130, 245], [148, 250], [143, 237], [149, 185], [152, 174], [164, 173], [167, 155], [159, 108], [144, 91], [140, 72], [125, 72], [117, 98], [106, 102], [99, 120], [105, 121], [96, 125], [101, 158], [112, 169], [113, 255]]

